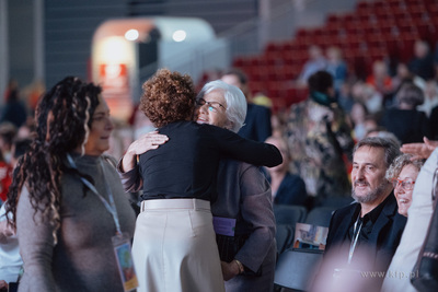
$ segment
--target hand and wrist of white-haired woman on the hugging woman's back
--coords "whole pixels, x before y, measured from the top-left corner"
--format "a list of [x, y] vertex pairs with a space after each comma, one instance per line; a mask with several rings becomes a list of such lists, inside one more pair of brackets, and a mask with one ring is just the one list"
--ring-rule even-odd
[[123, 172], [129, 172], [135, 167], [137, 155], [143, 154], [149, 150], [157, 149], [168, 140], [168, 136], [158, 133], [158, 131], [151, 131], [140, 136], [140, 138], [129, 145], [122, 160]]

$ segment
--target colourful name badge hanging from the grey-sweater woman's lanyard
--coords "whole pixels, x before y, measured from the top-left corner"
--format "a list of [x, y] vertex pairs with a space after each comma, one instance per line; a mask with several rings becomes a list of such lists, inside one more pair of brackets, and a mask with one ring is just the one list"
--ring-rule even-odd
[[112, 241], [124, 291], [132, 291], [138, 287], [138, 279], [134, 268], [129, 236], [126, 233], [123, 233], [122, 236], [113, 236]]

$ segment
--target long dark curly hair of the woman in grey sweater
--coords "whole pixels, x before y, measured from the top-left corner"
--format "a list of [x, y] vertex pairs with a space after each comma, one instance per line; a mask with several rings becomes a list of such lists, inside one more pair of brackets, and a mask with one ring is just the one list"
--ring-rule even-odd
[[41, 211], [44, 220], [54, 226], [55, 244], [56, 233], [60, 227], [62, 174], [77, 174], [94, 184], [91, 177], [64, 162], [67, 153], [79, 147], [83, 154], [91, 129], [91, 117], [99, 105], [101, 91], [100, 86], [68, 77], [46, 92], [38, 102], [35, 110], [36, 132], [30, 149], [16, 165], [7, 200], [7, 212], [12, 213], [12, 219], [8, 220], [14, 229], [16, 208], [24, 184], [28, 189], [34, 215]]

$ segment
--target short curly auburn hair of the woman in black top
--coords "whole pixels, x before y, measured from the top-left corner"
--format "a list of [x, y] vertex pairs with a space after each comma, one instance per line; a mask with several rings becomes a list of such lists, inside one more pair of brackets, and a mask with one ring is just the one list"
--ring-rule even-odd
[[153, 126], [193, 119], [196, 93], [189, 75], [161, 69], [143, 83], [142, 90], [139, 108]]

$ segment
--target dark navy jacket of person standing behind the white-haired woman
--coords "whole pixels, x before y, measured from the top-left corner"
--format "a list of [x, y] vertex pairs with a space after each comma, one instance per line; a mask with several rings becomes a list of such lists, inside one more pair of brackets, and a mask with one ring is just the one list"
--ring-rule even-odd
[[264, 142], [273, 133], [270, 109], [262, 105], [247, 104], [245, 121], [238, 133], [243, 138]]

